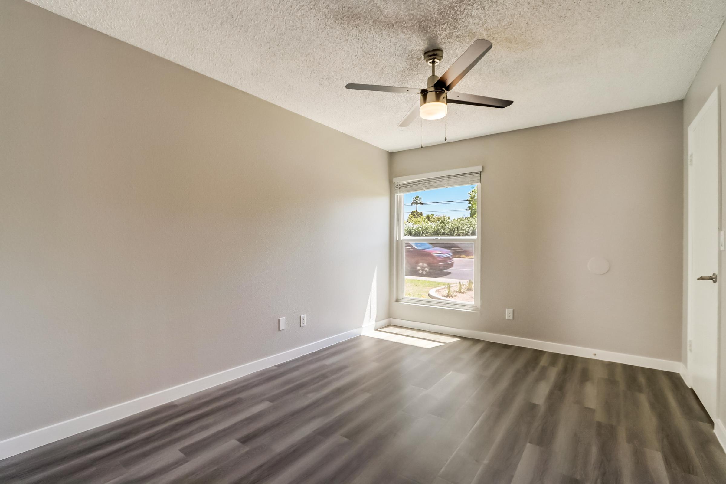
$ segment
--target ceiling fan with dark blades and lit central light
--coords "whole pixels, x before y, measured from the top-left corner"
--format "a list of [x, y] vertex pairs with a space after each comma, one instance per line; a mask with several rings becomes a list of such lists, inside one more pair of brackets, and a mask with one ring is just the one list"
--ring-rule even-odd
[[433, 49], [423, 54], [423, 60], [431, 65], [431, 75], [428, 77], [427, 87], [414, 89], [412, 87], [377, 86], [375, 84], [346, 84], [346, 89], [360, 89], [362, 91], [402, 92], [404, 94], [419, 94], [420, 99], [399, 123], [399, 126], [409, 126], [420, 115], [426, 120], [441, 119], [446, 116], [446, 105], [469, 104], [470, 106], [507, 107], [513, 101], [497, 99], [496, 97], [477, 96], [452, 92], [454, 86], [462, 80], [472, 67], [476, 65], [484, 54], [492, 49], [492, 42], [480, 38], [473, 42], [468, 49], [454, 62], [441, 77], [436, 76], [436, 65], [444, 58], [444, 51]]

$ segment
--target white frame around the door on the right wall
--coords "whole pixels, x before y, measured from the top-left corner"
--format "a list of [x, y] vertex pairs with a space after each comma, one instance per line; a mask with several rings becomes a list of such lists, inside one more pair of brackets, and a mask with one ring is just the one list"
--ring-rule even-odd
[[[693, 284], [694, 284], [694, 281], [695, 281], [694, 274], [693, 274], [693, 257], [692, 257], [692, 253], [691, 253], [691, 248], [693, 247], [693, 241], [692, 241], [693, 231], [691, 230], [692, 229], [692, 226], [691, 226], [692, 218], [690, 216], [690, 210], [691, 210], [691, 207], [690, 207], [690, 168], [688, 168], [688, 167], [690, 167], [690, 163], [691, 163], [690, 162], [690, 157], [692, 155], [692, 152], [691, 152], [691, 136], [692, 136], [692, 133], [693, 133], [693, 128], [695, 128], [696, 127], [696, 124], [698, 123], [698, 121], [700, 121], [701, 118], [703, 118], [703, 115], [705, 115], [706, 110], [708, 110], [711, 106], [713, 106], [715, 104], [716, 105], [716, 110], [717, 110], [717, 131], [718, 131], [718, 147], [717, 147], [717, 165], [718, 165], [718, 177], [719, 177], [719, 184], [718, 184], [718, 205], [719, 205], [719, 207], [718, 207], [718, 209], [719, 209], [718, 210], [718, 213], [719, 213], [719, 216], [718, 216], [718, 231], [719, 231], [719, 234], [722, 234], [723, 227], [722, 227], [722, 210], [721, 210], [721, 207], [722, 207], [722, 198], [723, 198], [723, 194], [722, 194], [723, 187], [722, 187], [722, 166], [721, 166], [721, 163], [722, 163], [721, 153], [722, 153], [722, 151], [721, 150], [722, 150], [722, 142], [723, 142], [723, 140], [721, 139], [721, 89], [720, 89], [720, 87], [721, 86], [716, 86], [716, 89], [714, 89], [714, 91], [711, 93], [711, 95], [709, 96], [709, 99], [707, 99], [706, 102], [703, 103], [703, 106], [701, 106], [701, 109], [698, 110], [698, 114], [696, 115], [696, 117], [693, 118], [693, 121], [691, 121], [690, 125], [688, 125], [688, 145], [686, 147], [686, 153], [687, 153], [687, 157], [688, 157], [687, 158], [687, 162], [686, 162], [687, 163], [686, 172], [688, 173], [688, 181], [687, 181], [687, 185], [686, 185], [686, 187], [688, 189], [688, 192], [687, 192], [688, 193], [688, 196], [686, 197], [686, 202], [688, 202], [688, 213], [687, 213], [687, 216], [688, 216], [688, 226], [685, 228], [688, 231], [688, 234], [687, 234], [688, 235], [688, 237], [687, 237], [688, 247], [686, 247], [686, 261], [688, 263], [688, 271], [687, 271], [688, 281], [686, 283], [687, 284], [687, 286], [686, 286], [686, 290], [687, 290], [686, 305], [687, 305], [687, 308], [686, 308], [686, 342], [685, 342], [685, 346], [686, 346], [686, 361], [685, 361], [685, 365], [686, 365], [686, 369], [687, 369], [687, 372], [688, 372], [688, 380], [686, 382], [688, 383], [688, 386], [690, 386], [690, 363], [691, 363], [691, 351], [690, 351], [690, 348], [689, 348], [689, 342], [691, 340], [691, 332], [692, 332], [692, 329], [693, 329], [693, 324], [692, 324], [693, 318], [691, 316], [691, 309], [693, 308], [693, 303], [691, 301], [691, 298], [692, 298], [692, 294], [693, 294], [692, 287], [693, 287]], [[717, 266], [717, 273], [719, 274], [719, 278], [722, 276], [721, 275], [722, 252], [723, 252], [723, 249], [721, 247], [719, 247], [719, 250], [718, 250], [718, 266]], [[724, 274], [724, 276], [726, 276], [726, 274]], [[721, 282], [721, 281], [719, 281], [719, 282]], [[721, 340], [722, 340], [722, 337], [724, 337], [724, 335], [722, 335], [722, 331], [721, 331], [721, 295], [722, 295], [721, 285], [722, 284], [718, 284], [718, 287], [717, 287], [717, 321], [716, 321], [716, 335], [717, 335], [717, 354], [716, 354], [716, 361], [717, 361], [717, 364], [716, 364], [716, 409], [717, 409], [717, 412], [718, 412], [718, 409], [720, 408], [720, 405], [721, 405], [721, 401], [720, 401], [721, 400], [721, 398], [720, 398], [720, 396], [721, 396], [721, 388], [720, 388], [721, 371], [720, 370], [721, 370], [722, 357], [723, 357], [723, 355], [721, 354]], [[717, 421], [717, 418], [718, 418], [718, 415], [711, 415], [711, 419], [713, 419], [714, 422]]]

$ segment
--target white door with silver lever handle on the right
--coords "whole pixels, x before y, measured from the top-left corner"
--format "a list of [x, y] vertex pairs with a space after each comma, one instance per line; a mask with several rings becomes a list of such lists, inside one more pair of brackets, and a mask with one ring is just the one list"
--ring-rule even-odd
[[716, 89], [688, 127], [688, 372], [693, 390], [712, 417], [716, 416], [718, 288], [722, 276], [717, 274], [719, 129]]

